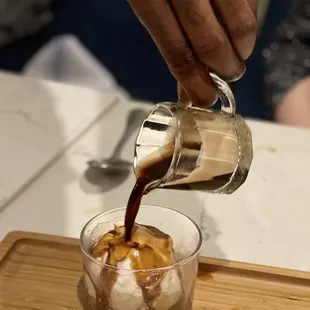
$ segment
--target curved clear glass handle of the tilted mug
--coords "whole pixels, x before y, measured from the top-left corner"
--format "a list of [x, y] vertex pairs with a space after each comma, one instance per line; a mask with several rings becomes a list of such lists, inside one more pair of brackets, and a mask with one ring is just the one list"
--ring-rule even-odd
[[210, 72], [210, 76], [218, 88], [222, 111], [234, 115], [236, 113], [236, 101], [229, 85], [213, 72]]

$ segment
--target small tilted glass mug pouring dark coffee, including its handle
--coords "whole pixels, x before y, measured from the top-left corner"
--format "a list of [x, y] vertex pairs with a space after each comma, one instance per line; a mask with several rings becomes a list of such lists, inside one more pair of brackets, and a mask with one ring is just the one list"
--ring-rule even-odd
[[170, 188], [230, 194], [245, 182], [253, 158], [251, 131], [235, 113], [228, 84], [211, 76], [219, 89], [221, 110], [164, 102], [144, 120], [136, 139], [135, 174], [139, 177], [146, 167], [163, 161], [166, 166], [147, 191]]

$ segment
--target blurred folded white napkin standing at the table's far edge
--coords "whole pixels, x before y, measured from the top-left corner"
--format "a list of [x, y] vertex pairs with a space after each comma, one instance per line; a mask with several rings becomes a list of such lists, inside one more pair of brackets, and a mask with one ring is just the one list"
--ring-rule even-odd
[[117, 93], [129, 99], [114, 76], [73, 35], [53, 38], [25, 65], [23, 74]]

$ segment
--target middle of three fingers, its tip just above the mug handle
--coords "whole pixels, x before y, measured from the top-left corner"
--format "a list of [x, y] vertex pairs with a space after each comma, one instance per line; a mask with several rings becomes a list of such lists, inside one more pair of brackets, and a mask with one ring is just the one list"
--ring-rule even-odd
[[244, 64], [220, 26], [210, 1], [171, 2], [198, 58], [226, 80], [239, 78], [244, 72]]

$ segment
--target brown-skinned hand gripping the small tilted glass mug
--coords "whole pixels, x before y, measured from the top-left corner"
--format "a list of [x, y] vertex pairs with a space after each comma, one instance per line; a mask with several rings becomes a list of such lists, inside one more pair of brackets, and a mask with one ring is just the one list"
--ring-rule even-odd
[[227, 81], [243, 75], [256, 39], [257, 0], [128, 2], [177, 79], [180, 101], [214, 104], [209, 69]]

